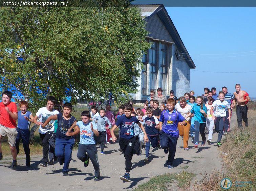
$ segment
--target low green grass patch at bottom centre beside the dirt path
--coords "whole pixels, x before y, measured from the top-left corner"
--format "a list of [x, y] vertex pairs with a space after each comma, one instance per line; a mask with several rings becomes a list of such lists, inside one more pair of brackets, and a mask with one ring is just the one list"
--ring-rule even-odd
[[195, 174], [182, 171], [181, 173], [165, 173], [163, 175], [152, 177], [148, 182], [139, 185], [134, 191], [165, 191], [168, 190], [170, 183], [174, 180], [181, 189], [188, 188]]

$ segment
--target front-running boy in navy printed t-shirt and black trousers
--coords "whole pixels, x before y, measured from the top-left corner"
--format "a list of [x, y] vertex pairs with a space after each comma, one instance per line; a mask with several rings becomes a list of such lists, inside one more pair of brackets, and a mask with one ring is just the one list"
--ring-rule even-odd
[[133, 107], [131, 104], [125, 104], [124, 108], [124, 113], [125, 115], [122, 115], [119, 117], [118, 121], [116, 121], [114, 127], [110, 130], [111, 136], [112, 136], [112, 141], [116, 141], [116, 137], [114, 134], [114, 130], [120, 126], [120, 140], [119, 140], [119, 145], [120, 148], [124, 152], [124, 157], [125, 157], [125, 175], [120, 176], [120, 179], [125, 181], [125, 182], [131, 182], [130, 181], [130, 171], [132, 167], [131, 159], [133, 155], [133, 150], [134, 150], [134, 142], [136, 137], [134, 137], [134, 124], [138, 124], [138, 126], [142, 129], [144, 132], [144, 142], [148, 142], [148, 137], [147, 133], [145, 132], [144, 127], [141, 125], [139, 120], [131, 116], [133, 111]]

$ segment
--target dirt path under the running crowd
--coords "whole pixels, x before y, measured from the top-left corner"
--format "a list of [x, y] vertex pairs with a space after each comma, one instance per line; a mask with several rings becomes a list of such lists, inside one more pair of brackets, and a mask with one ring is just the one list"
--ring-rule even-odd
[[[233, 113], [231, 128], [236, 123], [236, 114]], [[179, 137], [174, 159], [174, 168], [164, 167], [167, 155], [163, 149], [150, 149], [150, 163], [145, 164], [145, 150], [142, 156], [134, 155], [132, 159], [131, 183], [123, 183], [119, 177], [124, 174], [125, 159], [118, 151], [119, 145], [106, 144], [105, 155], [99, 156], [101, 181], [94, 182], [94, 170], [91, 162], [85, 168], [83, 163], [76, 157], [77, 150], [72, 153], [72, 160], [69, 165], [70, 176], [62, 175], [62, 166], [56, 163], [52, 166], [38, 166], [40, 156], [31, 158], [31, 167], [25, 167], [25, 156], [18, 160], [16, 170], [9, 168], [10, 161], [3, 158], [0, 164], [0, 185], [1, 191], [5, 190], [132, 190], [139, 184], [147, 182], [150, 177], [164, 174], [181, 172], [184, 168], [188, 172], [196, 174], [194, 180], [200, 180], [205, 173], [214, 169], [222, 168], [221, 155], [216, 147], [217, 133], [213, 134], [213, 142], [199, 148], [192, 148], [189, 139], [189, 151], [183, 149], [183, 139]], [[98, 151], [100, 149], [98, 148]], [[100, 153], [100, 152], [98, 152]]]

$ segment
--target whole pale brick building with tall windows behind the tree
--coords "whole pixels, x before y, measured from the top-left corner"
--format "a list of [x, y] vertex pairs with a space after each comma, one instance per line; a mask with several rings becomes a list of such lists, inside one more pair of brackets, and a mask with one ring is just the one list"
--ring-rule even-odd
[[195, 64], [188, 54], [165, 7], [161, 5], [136, 5], [142, 10], [149, 32], [147, 40], [152, 46], [143, 55], [144, 68], [138, 78], [138, 91], [132, 94], [133, 100], [146, 100], [150, 90], [158, 87], [164, 95], [174, 90], [177, 97], [190, 90], [190, 69]]

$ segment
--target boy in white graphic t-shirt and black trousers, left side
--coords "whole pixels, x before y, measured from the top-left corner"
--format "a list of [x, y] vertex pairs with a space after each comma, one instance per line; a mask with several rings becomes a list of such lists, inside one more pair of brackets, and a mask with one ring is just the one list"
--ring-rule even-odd
[[[43, 158], [41, 160], [40, 166], [46, 167], [47, 162], [49, 165], [53, 163], [53, 156], [54, 156], [54, 147], [49, 145], [49, 139], [51, 138], [52, 134], [54, 133], [54, 122], [55, 120], [51, 120], [44, 128], [41, 126], [48, 117], [51, 115], [59, 114], [59, 111], [54, 109], [56, 104], [56, 99], [53, 96], [47, 97], [47, 105], [46, 107], [41, 107], [36, 116], [34, 117], [34, 124], [40, 125], [39, 126], [39, 135], [42, 139], [43, 144]], [[39, 119], [39, 121], [37, 121]], [[51, 153], [51, 157], [49, 157], [49, 153]], [[49, 159], [49, 161], [48, 161]]]

